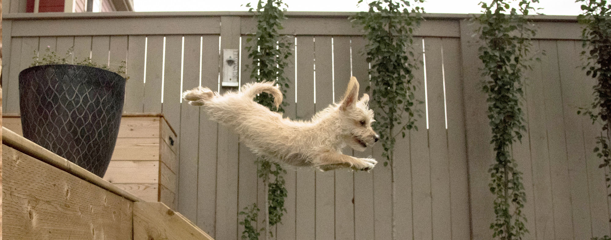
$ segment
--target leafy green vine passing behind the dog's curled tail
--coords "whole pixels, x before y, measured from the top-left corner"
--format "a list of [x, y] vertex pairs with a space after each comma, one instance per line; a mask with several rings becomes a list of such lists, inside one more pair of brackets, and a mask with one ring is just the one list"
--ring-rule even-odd
[[[250, 3], [246, 7], [251, 7]], [[287, 4], [282, 0], [259, 0], [257, 7], [251, 7], [250, 13], [254, 13], [257, 20], [257, 32], [246, 39], [247, 43], [252, 43], [246, 46], [246, 51], [249, 53], [249, 59], [252, 59], [250, 67], [251, 79], [256, 79], [257, 82], [275, 81], [280, 85], [280, 90], [284, 97], [289, 87], [289, 79], [284, 75], [284, 68], [288, 64], [288, 58], [291, 54], [290, 37], [279, 34], [282, 29], [282, 20], [286, 19], [285, 12]], [[257, 103], [269, 107], [269, 109], [278, 112], [284, 112], [287, 103], [283, 102], [277, 109], [274, 109], [274, 98], [267, 93], [262, 93], [255, 97]], [[284, 200], [287, 197], [287, 189], [285, 188], [284, 174], [286, 170], [280, 164], [271, 162], [264, 157], [257, 159], [257, 174], [268, 187], [267, 196], [267, 211], [268, 224], [274, 226], [282, 223], [282, 216], [287, 211], [284, 206]], [[244, 208], [240, 214], [244, 215], [244, 220], [240, 222], [244, 225], [242, 239], [254, 240], [260, 236], [260, 231], [265, 231], [265, 228], [257, 230], [251, 222], [257, 221], [257, 213], [259, 209], [256, 203], [251, 208]], [[269, 231], [269, 235], [273, 235]]]

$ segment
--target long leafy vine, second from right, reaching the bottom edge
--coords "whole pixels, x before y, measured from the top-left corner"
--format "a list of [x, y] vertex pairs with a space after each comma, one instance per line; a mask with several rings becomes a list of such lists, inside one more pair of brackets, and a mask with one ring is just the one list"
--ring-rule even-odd
[[481, 74], [487, 77], [483, 92], [488, 93], [488, 119], [495, 152], [495, 162], [488, 170], [496, 214], [490, 228], [493, 238], [503, 240], [522, 239], [529, 232], [522, 213], [526, 202], [522, 173], [511, 156], [511, 145], [521, 141], [521, 132], [526, 130], [520, 100], [524, 93], [523, 71], [532, 60], [526, 55], [532, 47], [530, 38], [535, 30], [525, 15], [534, 13], [530, 5], [533, 2], [538, 0], [480, 2], [483, 13], [473, 19], [480, 23], [477, 33], [482, 43], [479, 48], [484, 65]]

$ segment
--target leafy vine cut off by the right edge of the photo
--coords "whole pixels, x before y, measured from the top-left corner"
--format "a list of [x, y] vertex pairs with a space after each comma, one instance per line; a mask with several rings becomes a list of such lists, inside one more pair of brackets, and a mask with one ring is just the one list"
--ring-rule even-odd
[[[587, 58], [586, 75], [597, 80], [593, 87], [595, 96], [590, 107], [580, 109], [577, 114], [584, 114], [591, 118], [595, 124], [601, 121], [601, 135], [596, 137], [597, 146], [594, 152], [602, 160], [599, 168], [607, 169], [605, 179], [607, 187], [611, 184], [611, 4], [606, 0], [577, 0], [584, 2], [581, 9], [584, 13], [577, 17], [584, 25], [582, 31], [582, 46], [588, 51], [582, 51]], [[593, 238], [598, 239], [598, 238]], [[609, 239], [604, 236], [601, 239]]]

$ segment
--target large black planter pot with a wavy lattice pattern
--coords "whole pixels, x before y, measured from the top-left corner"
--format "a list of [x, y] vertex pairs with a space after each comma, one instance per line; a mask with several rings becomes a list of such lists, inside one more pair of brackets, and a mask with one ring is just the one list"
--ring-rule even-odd
[[23, 136], [100, 177], [119, 134], [125, 78], [112, 71], [57, 64], [19, 74]]

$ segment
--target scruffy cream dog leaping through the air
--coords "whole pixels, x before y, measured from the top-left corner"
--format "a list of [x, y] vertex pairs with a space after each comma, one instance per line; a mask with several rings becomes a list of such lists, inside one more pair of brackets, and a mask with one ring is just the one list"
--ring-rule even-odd
[[377, 163], [371, 158], [343, 155], [346, 145], [364, 151], [378, 141], [371, 128], [373, 111], [368, 107], [369, 96], [360, 100], [359, 82], [352, 77], [340, 103], [331, 104], [310, 121], [293, 121], [270, 111], [252, 99], [266, 92], [274, 97], [276, 107], [282, 103], [282, 92], [273, 82], [246, 84], [241, 92], [219, 95], [207, 87], [197, 87], [183, 93], [194, 106], [204, 106], [211, 120], [235, 129], [243, 142], [258, 155], [296, 166], [311, 166], [323, 171], [351, 167], [370, 170]]

